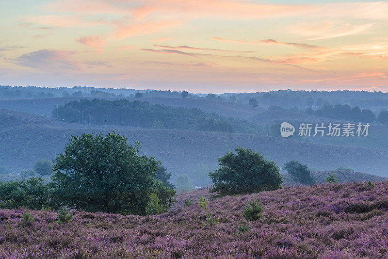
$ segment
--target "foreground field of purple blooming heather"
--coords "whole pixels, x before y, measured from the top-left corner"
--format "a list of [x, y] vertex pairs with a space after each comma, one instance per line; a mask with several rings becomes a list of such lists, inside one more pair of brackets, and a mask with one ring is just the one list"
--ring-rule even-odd
[[[167, 213], [154, 216], [75, 211], [72, 222], [57, 213], [0, 210], [0, 258], [388, 258], [388, 182], [285, 187], [254, 194], [262, 219], [238, 233], [251, 195], [184, 207], [184, 199], [207, 195], [203, 188], [177, 196]], [[34, 221], [22, 224], [24, 212]], [[218, 224], [206, 226], [209, 213]]]

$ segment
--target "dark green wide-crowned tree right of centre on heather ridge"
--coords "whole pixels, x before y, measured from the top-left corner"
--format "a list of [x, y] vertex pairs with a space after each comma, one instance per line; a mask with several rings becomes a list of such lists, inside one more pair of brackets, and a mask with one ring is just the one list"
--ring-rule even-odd
[[236, 148], [218, 159], [220, 169], [209, 174], [218, 195], [249, 194], [281, 188], [279, 167], [250, 149]]

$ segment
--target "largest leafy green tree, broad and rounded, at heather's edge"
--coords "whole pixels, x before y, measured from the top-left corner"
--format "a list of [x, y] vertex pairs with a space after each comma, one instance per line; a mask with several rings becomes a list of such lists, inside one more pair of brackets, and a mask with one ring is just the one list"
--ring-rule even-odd
[[140, 156], [140, 148], [114, 131], [105, 137], [71, 136], [64, 153], [55, 158], [52, 207], [144, 215], [148, 195], [156, 193], [168, 209], [176, 192], [154, 179], [160, 162]]

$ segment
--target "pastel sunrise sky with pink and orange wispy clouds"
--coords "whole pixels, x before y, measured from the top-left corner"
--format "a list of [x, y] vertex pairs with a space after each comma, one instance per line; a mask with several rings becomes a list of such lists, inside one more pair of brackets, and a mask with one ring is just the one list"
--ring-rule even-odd
[[388, 1], [1, 0], [0, 84], [388, 91]]

